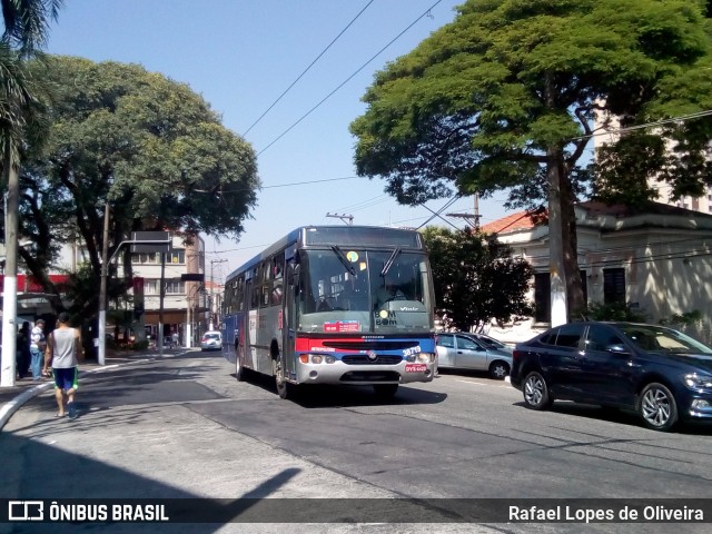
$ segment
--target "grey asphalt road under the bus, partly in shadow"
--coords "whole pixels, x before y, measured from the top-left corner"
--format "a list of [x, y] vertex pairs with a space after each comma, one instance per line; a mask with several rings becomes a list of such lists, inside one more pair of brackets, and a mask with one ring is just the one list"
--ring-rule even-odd
[[[279, 399], [269, 380], [238, 383], [231, 373], [219, 354], [190, 353], [86, 375], [76, 421], [53, 417], [50, 393], [33, 398], [0, 433], [0, 497], [333, 500], [322, 516], [312, 508], [299, 520], [303, 511], [288, 506], [275, 515], [275, 523], [315, 516], [318, 523], [171, 524], [164, 532], [709, 530], [694, 523], [428, 525], [418, 510], [408, 523], [382, 522], [379, 514], [364, 521], [367, 513], [324, 523], [349, 502], [339, 500], [354, 498], [679, 498], [692, 506], [693, 498], [712, 497], [712, 426], [663, 434], [632, 414], [568, 403], [532, 412], [507, 383], [476, 374], [442, 373], [433, 383], [402, 386], [389, 402], [367, 387], [309, 389], [291, 402]], [[113, 524], [110, 532], [138, 526]], [[7, 527], [0, 532], [43, 532]], [[51, 530], [61, 527], [97, 525]]]

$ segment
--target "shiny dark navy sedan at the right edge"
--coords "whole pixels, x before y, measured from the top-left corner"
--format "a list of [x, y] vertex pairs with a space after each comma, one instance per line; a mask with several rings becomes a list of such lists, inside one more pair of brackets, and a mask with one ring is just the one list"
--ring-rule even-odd
[[532, 409], [554, 399], [633, 409], [655, 431], [712, 418], [712, 348], [673, 328], [570, 323], [513, 356], [510, 379]]

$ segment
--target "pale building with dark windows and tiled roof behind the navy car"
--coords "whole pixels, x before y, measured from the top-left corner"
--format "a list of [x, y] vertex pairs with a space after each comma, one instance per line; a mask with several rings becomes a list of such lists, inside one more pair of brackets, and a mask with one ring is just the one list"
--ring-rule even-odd
[[[576, 205], [575, 214], [589, 304], [625, 303], [651, 323], [698, 310], [702, 319], [686, 329], [712, 342], [712, 215], [660, 202], [637, 210], [592, 201]], [[496, 235], [536, 271], [530, 290], [534, 316], [490, 332], [504, 342], [528, 339], [550, 327], [548, 227], [518, 212], [482, 231]]]

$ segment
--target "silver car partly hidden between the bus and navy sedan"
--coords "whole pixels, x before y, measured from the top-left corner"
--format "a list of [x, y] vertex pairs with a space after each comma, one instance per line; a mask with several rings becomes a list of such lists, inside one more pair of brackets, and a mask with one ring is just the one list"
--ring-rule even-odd
[[438, 369], [486, 370], [502, 380], [512, 368], [512, 350], [494, 348], [473, 334], [438, 334], [436, 349]]

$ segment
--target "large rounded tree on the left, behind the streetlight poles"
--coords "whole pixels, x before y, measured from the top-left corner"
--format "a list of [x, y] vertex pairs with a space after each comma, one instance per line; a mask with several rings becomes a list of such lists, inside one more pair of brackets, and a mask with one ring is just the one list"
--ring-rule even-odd
[[[71, 57], [34, 67], [52, 101], [49, 136], [30, 147], [21, 171], [21, 231], [34, 243], [21, 255], [48, 294], [59, 295], [47, 276], [58, 247], [75, 240], [99, 287], [107, 204], [110, 256], [137, 230], [243, 231], [259, 188], [255, 152], [187, 85], [136, 65]], [[93, 314], [97, 297], [72, 312]]]

